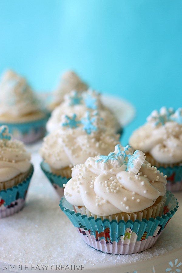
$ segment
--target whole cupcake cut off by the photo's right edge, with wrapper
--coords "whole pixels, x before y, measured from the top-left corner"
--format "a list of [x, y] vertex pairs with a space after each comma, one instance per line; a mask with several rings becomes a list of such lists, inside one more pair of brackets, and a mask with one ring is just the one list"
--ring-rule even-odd
[[154, 110], [147, 123], [135, 130], [129, 140], [134, 149], [167, 175], [168, 190], [182, 190], [182, 109]]

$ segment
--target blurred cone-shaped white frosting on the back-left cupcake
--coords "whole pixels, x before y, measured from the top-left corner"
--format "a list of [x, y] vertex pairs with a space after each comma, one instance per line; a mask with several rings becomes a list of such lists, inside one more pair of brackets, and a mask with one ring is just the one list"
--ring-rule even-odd
[[26, 79], [12, 70], [2, 75], [0, 94], [0, 116], [21, 117], [40, 109], [40, 103]]

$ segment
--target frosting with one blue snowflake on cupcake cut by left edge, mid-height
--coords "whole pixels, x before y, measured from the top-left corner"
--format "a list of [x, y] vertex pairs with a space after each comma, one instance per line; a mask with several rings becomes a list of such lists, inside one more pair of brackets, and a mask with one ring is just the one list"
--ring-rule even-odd
[[30, 154], [22, 141], [13, 140], [7, 126], [0, 126], [0, 182], [25, 173], [30, 168]]

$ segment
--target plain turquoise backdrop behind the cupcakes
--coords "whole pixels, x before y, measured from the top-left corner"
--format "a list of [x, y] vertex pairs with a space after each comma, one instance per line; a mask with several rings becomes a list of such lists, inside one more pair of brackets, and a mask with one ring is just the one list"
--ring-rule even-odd
[[182, 106], [181, 48], [181, 0], [0, 0], [0, 73], [50, 92], [73, 69], [130, 101], [123, 145], [153, 109]]

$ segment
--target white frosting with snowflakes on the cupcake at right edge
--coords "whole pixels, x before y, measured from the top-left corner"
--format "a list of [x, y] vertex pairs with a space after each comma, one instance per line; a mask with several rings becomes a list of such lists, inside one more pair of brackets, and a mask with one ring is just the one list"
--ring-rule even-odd
[[154, 110], [147, 123], [133, 132], [129, 143], [134, 149], [150, 153], [160, 163], [182, 161], [182, 108]]

